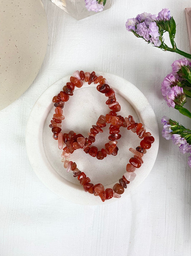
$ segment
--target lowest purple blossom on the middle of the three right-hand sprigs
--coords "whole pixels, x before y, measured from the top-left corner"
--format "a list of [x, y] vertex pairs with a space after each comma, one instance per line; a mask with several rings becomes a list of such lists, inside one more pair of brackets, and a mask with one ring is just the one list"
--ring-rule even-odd
[[186, 102], [186, 96], [183, 92], [183, 88], [176, 85], [172, 87], [171, 91], [166, 96], [166, 102], [168, 107], [175, 107], [176, 105], [183, 105]]

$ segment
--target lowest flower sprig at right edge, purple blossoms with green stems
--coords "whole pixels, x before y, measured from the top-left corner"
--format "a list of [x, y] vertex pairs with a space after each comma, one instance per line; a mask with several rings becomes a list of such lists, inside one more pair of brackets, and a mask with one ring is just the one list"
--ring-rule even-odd
[[162, 136], [178, 145], [180, 152], [189, 153], [188, 165], [191, 167], [191, 130], [186, 129], [178, 122], [163, 116], [161, 123], [163, 124]]

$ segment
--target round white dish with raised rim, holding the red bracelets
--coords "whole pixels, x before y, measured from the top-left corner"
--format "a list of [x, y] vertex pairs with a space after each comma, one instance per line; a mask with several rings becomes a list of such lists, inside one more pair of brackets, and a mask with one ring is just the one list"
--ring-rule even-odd
[[[155, 138], [152, 148], [143, 156], [144, 163], [135, 171], [137, 174], [135, 180], [125, 189], [122, 195], [125, 197], [142, 183], [152, 170], [159, 145], [158, 125], [151, 105], [137, 87], [125, 79], [109, 73], [97, 71], [96, 74], [106, 77], [108, 84], [114, 88], [116, 98], [121, 105], [121, 111], [118, 113], [124, 117], [132, 114], [135, 121], [143, 122], [146, 131], [150, 131]], [[99, 197], [85, 193], [77, 178], [63, 168], [62, 151], [58, 149], [57, 141], [52, 138], [52, 131], [49, 128], [55, 109], [52, 98], [62, 90], [68, 81], [70, 81], [70, 76], [63, 77], [44, 91], [35, 103], [26, 130], [28, 157], [39, 179], [58, 196], [80, 204], [103, 204]], [[65, 120], [62, 122], [63, 132], [68, 133], [73, 130], [88, 136], [87, 133], [90, 131], [91, 125], [96, 124], [100, 114], [109, 112], [105, 101], [105, 95], [99, 93], [94, 84], [85, 83], [81, 88], [76, 88], [74, 95], [70, 97], [63, 108], [65, 116]], [[109, 141], [108, 127], [109, 125], [104, 128], [104, 133], [96, 136], [95, 145], [100, 149]], [[84, 171], [92, 183], [102, 183], [105, 188], [113, 188], [113, 185], [126, 171], [126, 164], [132, 157], [129, 148], [136, 148], [140, 139], [132, 131], [123, 127], [120, 129], [120, 134], [117, 156], [107, 156], [104, 160], [98, 161], [89, 154], [85, 154], [83, 150], [76, 150], [71, 154], [71, 161], [77, 163], [78, 169]], [[112, 198], [104, 203], [114, 200], [120, 199]]]

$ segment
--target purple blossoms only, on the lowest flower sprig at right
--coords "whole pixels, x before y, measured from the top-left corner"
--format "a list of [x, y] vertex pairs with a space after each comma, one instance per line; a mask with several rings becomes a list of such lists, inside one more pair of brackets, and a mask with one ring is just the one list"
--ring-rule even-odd
[[[191, 155], [191, 145], [187, 143], [186, 139], [181, 137], [180, 134], [172, 134], [172, 127], [169, 124], [169, 118], [163, 116], [161, 119], [163, 124], [162, 136], [163, 138], [170, 140], [172, 139], [173, 144], [178, 145], [180, 152], [185, 154], [189, 153]], [[188, 157], [188, 165], [191, 167], [191, 156]]]

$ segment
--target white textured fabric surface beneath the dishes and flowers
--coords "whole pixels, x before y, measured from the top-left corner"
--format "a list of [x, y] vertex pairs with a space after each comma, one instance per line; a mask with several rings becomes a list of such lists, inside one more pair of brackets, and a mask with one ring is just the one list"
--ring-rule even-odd
[[43, 91], [76, 69], [102, 70], [132, 82], [152, 105], [160, 133], [164, 114], [191, 126], [168, 108], [160, 91], [171, 63], [181, 56], [125, 30], [127, 18], [168, 7], [177, 24], [177, 47], [190, 53], [184, 9], [191, 1], [114, 0], [109, 10], [81, 21], [50, 0], [43, 3], [49, 29], [44, 63], [29, 89], [0, 111], [0, 255], [190, 256], [191, 169], [172, 142], [161, 136], [153, 170], [134, 194], [109, 205], [82, 206], [59, 198], [34, 174], [25, 127]]

